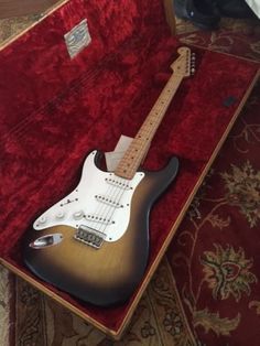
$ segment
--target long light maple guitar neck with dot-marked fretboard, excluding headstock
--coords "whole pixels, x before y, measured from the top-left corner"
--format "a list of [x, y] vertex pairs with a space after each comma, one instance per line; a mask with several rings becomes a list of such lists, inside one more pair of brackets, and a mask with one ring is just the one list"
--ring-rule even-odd
[[173, 74], [170, 77], [155, 105], [120, 160], [115, 171], [116, 175], [128, 180], [134, 176], [182, 80], [182, 75]]

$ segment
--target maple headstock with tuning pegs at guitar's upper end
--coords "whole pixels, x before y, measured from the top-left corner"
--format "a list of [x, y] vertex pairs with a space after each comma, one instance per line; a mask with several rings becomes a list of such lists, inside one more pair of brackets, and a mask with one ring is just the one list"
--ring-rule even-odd
[[195, 53], [188, 47], [177, 50], [178, 57], [172, 63], [171, 68], [175, 75], [188, 77], [195, 73]]

